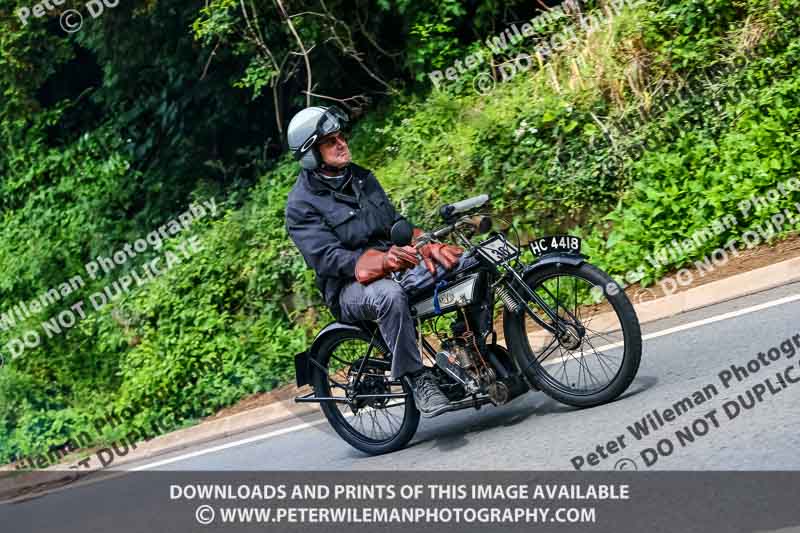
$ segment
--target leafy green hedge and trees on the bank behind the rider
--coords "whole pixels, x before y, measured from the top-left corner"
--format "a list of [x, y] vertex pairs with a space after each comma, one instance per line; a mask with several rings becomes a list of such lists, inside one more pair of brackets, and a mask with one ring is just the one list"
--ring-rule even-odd
[[[593, 262], [615, 275], [643, 265], [650, 282], [800, 200], [738, 211], [797, 176], [797, 0], [642, 3], [487, 95], [473, 87], [486, 69], [432, 93], [427, 72], [530, 19], [531, 3], [326, 2], [329, 14], [285, 4], [307, 12], [292, 20], [317, 43], [315, 91], [404, 88], [360, 117], [351, 148], [418, 224], [432, 224], [441, 203], [489, 193], [523, 234], [577, 232]], [[0, 12], [18, 5], [0, 0]], [[71, 37], [56, 14], [25, 27], [4, 19], [0, 313], [192, 201], [213, 197], [221, 212], [192, 227], [202, 250], [191, 258], [6, 361], [0, 461], [83, 432], [100, 442], [155, 420], [194, 423], [290, 381], [292, 355], [331, 319], [284, 229], [297, 169], [281, 154], [280, 128], [305, 105], [308, 73], [274, 3], [241, 6], [121, 4]], [[539, 37], [577, 22], [561, 17]], [[743, 68], [715, 74], [741, 58]], [[686, 83], [696, 94], [672, 100]], [[368, 99], [358, 101], [356, 114]], [[647, 260], [730, 213], [736, 226], [702, 247], [659, 266]], [[0, 345], [154, 255], [0, 330]], [[97, 433], [93, 421], [110, 413], [122, 425]]]

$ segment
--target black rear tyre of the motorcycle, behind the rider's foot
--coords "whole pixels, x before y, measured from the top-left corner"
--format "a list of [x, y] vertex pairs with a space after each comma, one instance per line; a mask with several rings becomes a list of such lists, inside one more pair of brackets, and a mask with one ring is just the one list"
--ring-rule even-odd
[[[367, 348], [369, 347], [370, 342], [370, 335], [363, 331], [356, 331], [356, 330], [341, 330], [331, 333], [327, 338], [325, 338], [320, 347], [317, 351], [317, 362], [325, 368], [328, 368], [328, 374], [322, 372], [316, 366], [312, 366], [313, 368], [313, 375], [311, 379], [311, 384], [314, 387], [315, 394], [321, 397], [330, 397], [330, 396], [344, 396], [344, 391], [339, 389], [338, 387], [332, 387], [329, 377], [336, 378], [335, 380], [338, 383], [346, 382], [343, 380], [343, 376], [335, 376], [335, 371], [330, 368], [330, 363], [332, 359], [332, 355], [337, 353], [337, 349], [340, 348], [345, 343], [348, 343], [348, 346], [355, 346], [355, 352], [357, 356], [364, 356], [366, 355]], [[361, 346], [362, 348], [358, 348]], [[382, 360], [384, 368], [380, 370], [374, 370], [376, 375], [383, 374], [386, 376], [388, 381], [389, 370], [386, 368], [386, 363], [388, 362], [388, 367], [391, 367], [391, 359], [387, 357], [387, 351], [383, 348], [380, 348], [380, 344], [376, 344], [373, 347], [372, 354], [370, 355], [369, 361], [373, 360]], [[351, 349], [351, 351], [353, 351]], [[333, 359], [337, 361], [338, 359], [339, 364], [341, 365], [342, 357], [341, 355], [336, 355]], [[355, 360], [355, 359], [353, 359]], [[378, 365], [373, 365], [373, 367], [377, 367]], [[347, 368], [347, 373], [349, 374], [349, 367], [344, 365], [342, 368]], [[340, 371], [341, 369], [340, 368]], [[357, 370], [357, 368], [356, 368]], [[379, 378], [376, 378], [379, 379]], [[363, 376], [362, 376], [363, 380]], [[394, 428], [393, 431], [387, 434], [384, 438], [374, 438], [373, 436], [366, 435], [363, 433], [363, 430], [359, 430], [354, 424], [351, 422], [355, 419], [358, 415], [353, 414], [352, 412], [349, 413], [349, 416], [345, 416], [342, 410], [350, 410], [347, 404], [343, 403], [335, 403], [335, 402], [321, 402], [320, 406], [322, 408], [322, 412], [325, 413], [325, 417], [328, 419], [328, 422], [339, 434], [339, 436], [345, 440], [348, 444], [353, 446], [354, 448], [361, 450], [364, 453], [368, 453], [370, 455], [380, 455], [384, 453], [390, 453], [396, 450], [399, 450], [408, 444], [408, 442], [414, 437], [414, 434], [417, 431], [417, 426], [419, 426], [419, 417], [420, 413], [417, 410], [416, 406], [414, 405], [414, 398], [412, 395], [412, 391], [409, 389], [408, 385], [405, 383], [405, 380], [400, 380], [401, 384], [396, 384], [391, 387], [391, 392], [399, 392], [399, 387], [402, 386], [403, 392], [405, 392], [408, 396], [405, 398], [404, 407], [397, 406], [391, 407], [390, 409], [395, 409], [397, 411], [401, 411], [403, 413], [402, 422]], [[348, 383], [349, 384], [349, 383]], [[333, 390], [332, 390], [333, 389]], [[392, 405], [397, 404], [398, 401], [395, 399], [390, 399], [388, 402], [391, 402]], [[341, 409], [341, 410], [340, 410]], [[361, 408], [359, 412], [364, 413], [365, 409], [372, 409], [372, 407]], [[380, 414], [382, 409], [373, 409], [372, 413], [367, 413], [369, 416], [372, 416], [372, 420], [374, 421], [377, 416]], [[386, 409], [383, 409], [387, 411]], [[399, 413], [398, 413], [399, 415]], [[387, 421], [389, 419], [387, 418]], [[387, 424], [390, 425], [390, 424]]]

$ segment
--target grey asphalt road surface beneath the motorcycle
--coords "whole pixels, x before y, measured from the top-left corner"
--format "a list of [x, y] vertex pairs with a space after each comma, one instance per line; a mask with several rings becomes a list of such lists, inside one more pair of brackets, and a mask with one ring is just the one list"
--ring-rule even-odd
[[[798, 294], [800, 284], [788, 285], [647, 324], [643, 334], [647, 338], [648, 334]], [[800, 382], [787, 380], [800, 380], [800, 349], [794, 357], [789, 357], [787, 350], [774, 362], [766, 355], [770, 348], [800, 334], [798, 319], [800, 300], [645, 340], [637, 379], [611, 404], [580, 410], [558, 404], [541, 392], [529, 393], [503, 407], [489, 405], [479, 411], [422, 419], [411, 444], [389, 455], [366, 456], [342, 441], [327, 423], [319, 423], [321, 417], [311, 416], [133, 467], [184, 471], [574, 470], [579, 464], [581, 470], [800, 470], [796, 453], [800, 445]], [[742, 381], [733, 377], [728, 387], [723, 385], [721, 372], [730, 371], [731, 364], [746, 367], [759, 352], [765, 352], [768, 365], [759, 361], [756, 372]], [[789, 366], [794, 369], [786, 376]], [[781, 373], [785, 387], [776, 372]], [[767, 378], [771, 383], [765, 383]], [[726, 402], [736, 402], [741, 394], [749, 406], [747, 393], [753, 394], [759, 383], [755, 392], [765, 389], [761, 400], [750, 409], [740, 404], [740, 413], [730, 419]], [[693, 396], [701, 390], [705, 390], [702, 403]], [[657, 430], [651, 426], [648, 436], [635, 438], [635, 422], [641, 424], [654, 409], [662, 418], [669, 418], [664, 411], [677, 412], [673, 406], [686, 397], [695, 399], [691, 409], [678, 407], [681, 412], [671, 422], [664, 421]], [[727, 409], [734, 414], [733, 406], [728, 404]], [[311, 427], [302, 427], [308, 423]], [[676, 431], [682, 431], [681, 435]], [[238, 444], [247, 439], [251, 442]], [[658, 450], [659, 441], [663, 453], [653, 461], [656, 451], [643, 450]], [[597, 450], [598, 446], [602, 450]], [[211, 447], [222, 449], [204, 452]], [[590, 457], [590, 453], [596, 456]]]

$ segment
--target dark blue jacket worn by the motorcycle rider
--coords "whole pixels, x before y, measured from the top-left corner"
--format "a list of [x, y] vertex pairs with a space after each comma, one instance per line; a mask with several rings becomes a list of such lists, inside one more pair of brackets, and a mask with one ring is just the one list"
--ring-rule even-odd
[[302, 170], [286, 202], [286, 230], [317, 274], [325, 303], [339, 317], [339, 292], [355, 280], [368, 248], [388, 250], [392, 225], [402, 218], [369, 170], [350, 164], [354, 194], [336, 191]]

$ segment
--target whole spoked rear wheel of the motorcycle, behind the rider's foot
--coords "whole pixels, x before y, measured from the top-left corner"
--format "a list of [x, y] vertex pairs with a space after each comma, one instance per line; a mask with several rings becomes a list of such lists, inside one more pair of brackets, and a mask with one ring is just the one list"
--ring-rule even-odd
[[348, 444], [379, 455], [408, 444], [417, 431], [420, 413], [408, 385], [391, 379], [391, 359], [382, 343], [375, 342], [370, 352], [370, 338], [356, 330], [338, 331], [326, 338], [317, 351], [319, 366], [314, 365], [312, 386], [317, 397], [350, 399], [349, 403], [323, 401], [322, 412]]

